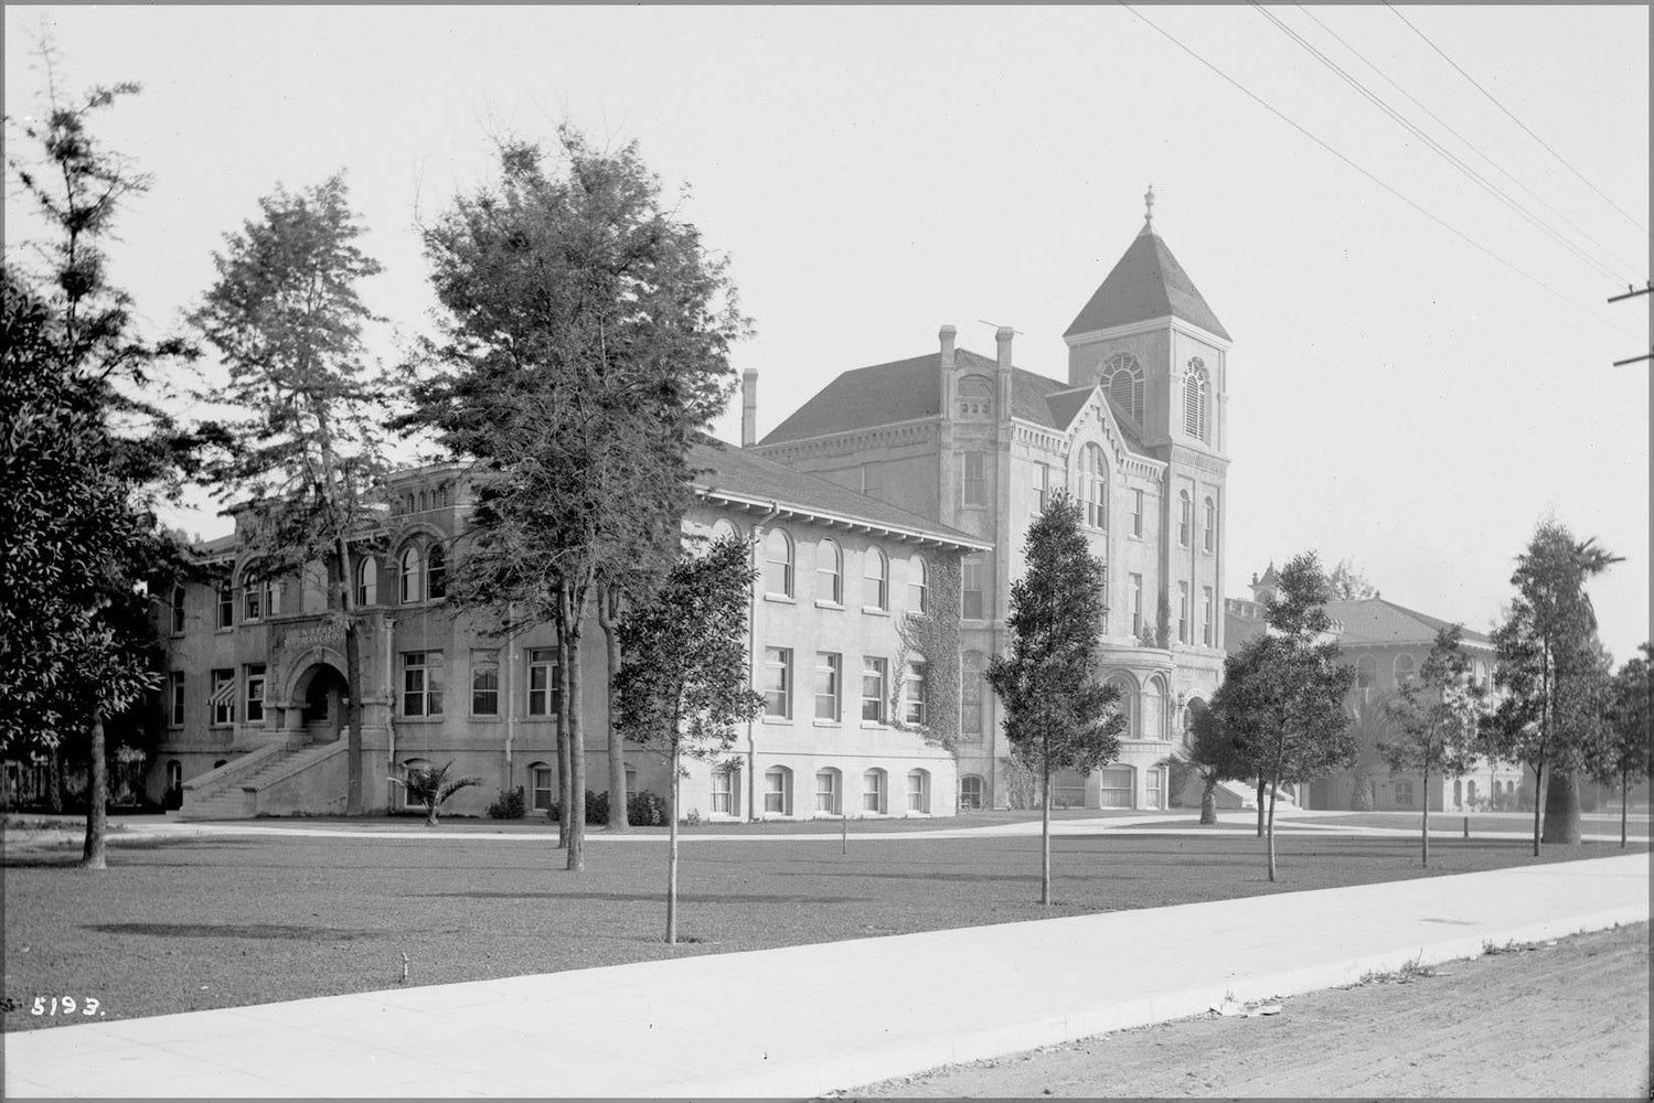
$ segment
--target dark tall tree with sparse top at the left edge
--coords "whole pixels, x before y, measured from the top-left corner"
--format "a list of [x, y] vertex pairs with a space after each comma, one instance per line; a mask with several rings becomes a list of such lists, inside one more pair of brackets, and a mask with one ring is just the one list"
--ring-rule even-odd
[[48, 236], [38, 263], [3, 266], [0, 370], [0, 744], [84, 749], [81, 865], [104, 868], [104, 724], [159, 685], [134, 594], [177, 549], [154, 506], [177, 488], [187, 438], [142, 400], [185, 342], [146, 341], [108, 276], [104, 241], [149, 177], [104, 147], [94, 124], [137, 84], [60, 93], [50, 45], [38, 119], [7, 119], [7, 170]]

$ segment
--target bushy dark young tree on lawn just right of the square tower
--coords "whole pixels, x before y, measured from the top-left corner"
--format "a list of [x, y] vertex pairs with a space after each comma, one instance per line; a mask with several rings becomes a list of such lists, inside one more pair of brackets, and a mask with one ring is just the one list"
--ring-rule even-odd
[[1212, 695], [1212, 711], [1226, 728], [1242, 733], [1259, 781], [1267, 782], [1264, 833], [1272, 881], [1280, 784], [1307, 782], [1356, 757], [1343, 704], [1355, 668], [1338, 661], [1336, 642], [1322, 638], [1331, 627], [1325, 602], [1327, 575], [1315, 552], [1293, 557], [1265, 602], [1270, 632], [1224, 660], [1224, 681]]

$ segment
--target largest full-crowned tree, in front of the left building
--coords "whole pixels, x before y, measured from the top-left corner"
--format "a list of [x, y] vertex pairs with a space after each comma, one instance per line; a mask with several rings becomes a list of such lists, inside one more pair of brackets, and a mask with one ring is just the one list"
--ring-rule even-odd
[[473, 461], [481, 488], [450, 597], [557, 628], [579, 870], [584, 623], [604, 585], [647, 595], [673, 562], [688, 451], [734, 390], [746, 319], [726, 261], [662, 205], [637, 146], [600, 152], [569, 127], [556, 159], [506, 142], [498, 184], [427, 227], [425, 251], [447, 334], [407, 423]]

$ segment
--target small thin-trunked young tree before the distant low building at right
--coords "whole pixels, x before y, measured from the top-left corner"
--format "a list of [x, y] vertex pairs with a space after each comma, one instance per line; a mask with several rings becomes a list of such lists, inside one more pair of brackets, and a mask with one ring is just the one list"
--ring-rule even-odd
[[1447, 625], [1436, 633], [1419, 676], [1389, 701], [1401, 739], [1379, 744], [1393, 771], [1424, 776], [1419, 832], [1426, 867], [1431, 863], [1431, 774], [1464, 777], [1475, 764], [1484, 695], [1470, 683], [1470, 657], [1462, 640], [1464, 625]]

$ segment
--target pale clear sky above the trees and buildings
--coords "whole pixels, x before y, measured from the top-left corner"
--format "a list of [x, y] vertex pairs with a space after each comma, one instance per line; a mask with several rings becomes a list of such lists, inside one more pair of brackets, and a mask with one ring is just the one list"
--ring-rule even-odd
[[[1012, 326], [1017, 365], [1065, 379], [1062, 332], [1153, 185], [1234, 337], [1231, 595], [1315, 549], [1485, 632], [1553, 518], [1626, 557], [1591, 585], [1614, 657], [1649, 637], [1649, 364], [1613, 362], [1649, 351], [1654, 296], [1606, 301], [1649, 278], [1647, 5], [3, 18], [8, 114], [41, 103], [41, 30], [65, 89], [144, 86], [101, 134], [154, 175], [111, 248], [152, 336], [260, 197], [344, 170], [394, 362], [435, 332], [418, 223], [490, 182], [498, 137], [571, 122], [635, 141], [728, 255], [761, 435], [839, 372], [931, 352], [944, 322], [989, 356]], [[8, 182], [8, 255], [26, 225]], [[739, 410], [716, 430], [738, 440]], [[215, 513], [174, 521], [215, 536]]]

